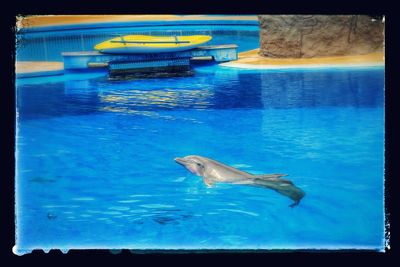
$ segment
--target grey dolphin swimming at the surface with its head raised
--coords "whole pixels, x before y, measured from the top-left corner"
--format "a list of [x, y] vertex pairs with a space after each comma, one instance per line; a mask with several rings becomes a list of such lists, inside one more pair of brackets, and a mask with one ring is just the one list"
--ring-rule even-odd
[[300, 203], [305, 193], [291, 181], [282, 179], [287, 174], [251, 174], [225, 165], [213, 159], [190, 155], [175, 158], [175, 162], [184, 166], [191, 173], [203, 177], [203, 182], [211, 187], [214, 183], [231, 183], [269, 188], [294, 201], [294, 207]]

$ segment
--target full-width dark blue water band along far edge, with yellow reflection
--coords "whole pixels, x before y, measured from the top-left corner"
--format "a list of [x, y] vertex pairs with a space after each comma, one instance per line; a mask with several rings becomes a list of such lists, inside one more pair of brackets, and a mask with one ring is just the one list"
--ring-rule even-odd
[[[193, 77], [68, 80], [17, 87], [21, 119], [161, 110], [374, 107], [383, 104], [382, 69], [240, 72], [216, 66]], [[375, 73], [374, 73], [375, 72]], [[378, 75], [375, 75], [378, 73]], [[143, 113], [142, 111], [150, 112]]]

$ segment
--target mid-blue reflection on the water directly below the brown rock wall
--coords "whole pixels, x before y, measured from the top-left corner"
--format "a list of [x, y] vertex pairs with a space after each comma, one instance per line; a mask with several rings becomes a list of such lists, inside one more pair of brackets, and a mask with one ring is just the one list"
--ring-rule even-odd
[[383, 105], [382, 70], [304, 71], [261, 75], [265, 108]]

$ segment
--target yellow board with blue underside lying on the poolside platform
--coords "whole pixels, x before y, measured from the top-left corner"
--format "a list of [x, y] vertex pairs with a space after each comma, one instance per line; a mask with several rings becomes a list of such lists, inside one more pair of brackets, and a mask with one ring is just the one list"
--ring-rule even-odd
[[176, 52], [193, 49], [210, 41], [211, 38], [209, 35], [125, 35], [99, 43], [94, 49], [101, 53], [111, 54]]

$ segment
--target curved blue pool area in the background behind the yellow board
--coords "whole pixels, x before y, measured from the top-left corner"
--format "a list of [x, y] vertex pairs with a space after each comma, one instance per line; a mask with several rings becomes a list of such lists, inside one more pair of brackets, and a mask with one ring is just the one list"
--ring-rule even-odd
[[[224, 22], [221, 21], [211, 25], [209, 24], [211, 22], [204, 21], [202, 22], [203, 25], [179, 25], [182, 22], [170, 22], [173, 25], [141, 26], [140, 23], [135, 22], [130, 26], [122, 26], [120, 25], [122, 23], [118, 23], [113, 27], [105, 25], [103, 28], [91, 25], [94, 28], [88, 29], [80, 29], [78, 26], [72, 29], [63, 29], [64, 27], [59, 29], [53, 26], [44, 31], [34, 29], [22, 31], [17, 35], [16, 58], [18, 61], [62, 61], [62, 52], [92, 51], [94, 46], [100, 42], [116, 36], [130, 34], [154, 36], [211, 35], [212, 40], [206, 45], [236, 44], [238, 45], [238, 52], [259, 47], [258, 23], [254, 21], [240, 22], [241, 24], [251, 23], [251, 25], [241, 25], [238, 22], [238, 24], [229, 25], [229, 27], [223, 25]], [[163, 24], [166, 23], [163, 22]]]

